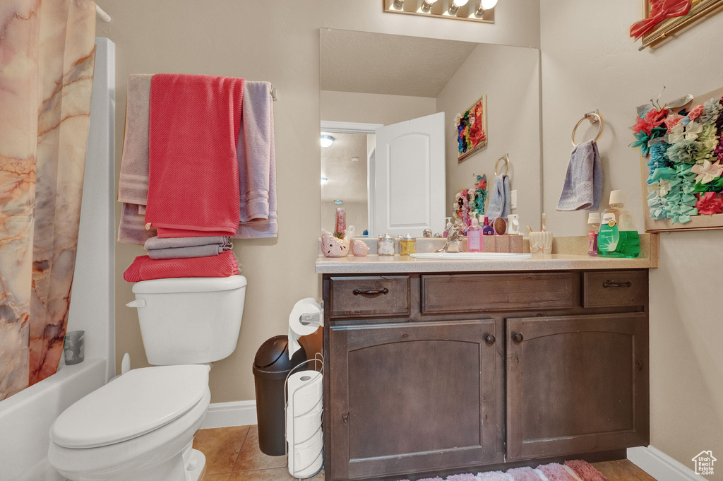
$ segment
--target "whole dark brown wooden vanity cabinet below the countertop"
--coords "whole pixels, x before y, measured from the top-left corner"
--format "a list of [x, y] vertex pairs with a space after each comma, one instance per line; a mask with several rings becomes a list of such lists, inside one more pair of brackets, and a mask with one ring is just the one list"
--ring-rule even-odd
[[648, 443], [645, 269], [323, 283], [330, 481], [619, 459]]

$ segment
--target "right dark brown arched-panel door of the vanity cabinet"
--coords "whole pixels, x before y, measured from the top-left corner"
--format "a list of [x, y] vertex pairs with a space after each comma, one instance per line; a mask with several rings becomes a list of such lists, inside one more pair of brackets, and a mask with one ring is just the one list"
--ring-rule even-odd
[[645, 313], [507, 320], [507, 459], [649, 440]]

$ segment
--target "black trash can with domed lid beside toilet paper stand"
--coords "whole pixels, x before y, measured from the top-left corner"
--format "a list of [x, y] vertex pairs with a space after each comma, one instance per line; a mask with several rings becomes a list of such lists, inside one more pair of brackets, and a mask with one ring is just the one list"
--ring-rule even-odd
[[307, 360], [303, 347], [288, 358], [288, 336], [275, 336], [261, 344], [254, 357], [254, 386], [256, 388], [256, 417], [259, 429], [259, 448], [268, 456], [286, 454], [286, 423], [283, 405], [283, 386], [288, 372]]

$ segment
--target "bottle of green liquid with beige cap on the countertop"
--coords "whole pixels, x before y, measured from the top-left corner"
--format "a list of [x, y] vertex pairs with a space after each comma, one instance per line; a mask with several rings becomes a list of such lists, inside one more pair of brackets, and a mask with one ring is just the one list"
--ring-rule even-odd
[[640, 255], [640, 235], [633, 213], [625, 208], [625, 193], [622, 190], [610, 192], [609, 207], [602, 213], [597, 253], [600, 257], [630, 259]]

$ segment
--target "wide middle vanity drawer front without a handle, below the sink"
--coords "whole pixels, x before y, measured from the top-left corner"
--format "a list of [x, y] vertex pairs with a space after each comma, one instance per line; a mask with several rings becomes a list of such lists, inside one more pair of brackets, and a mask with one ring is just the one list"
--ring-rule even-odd
[[571, 272], [422, 276], [422, 312], [574, 307], [578, 282]]

